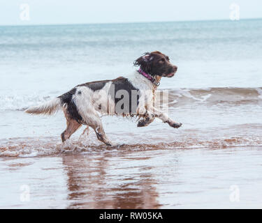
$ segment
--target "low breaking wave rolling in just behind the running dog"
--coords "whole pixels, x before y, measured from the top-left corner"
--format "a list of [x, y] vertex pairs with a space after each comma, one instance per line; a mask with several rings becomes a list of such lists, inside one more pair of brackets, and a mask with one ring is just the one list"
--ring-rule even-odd
[[[161, 92], [168, 93], [170, 106], [176, 104], [187, 104], [195, 102], [197, 104], [219, 104], [229, 103], [241, 105], [262, 102], [262, 88], [207, 88], [207, 89], [160, 89], [159, 100], [163, 101]], [[24, 111], [32, 105], [39, 105], [54, 98], [54, 93], [50, 95], [0, 95], [0, 111]]]

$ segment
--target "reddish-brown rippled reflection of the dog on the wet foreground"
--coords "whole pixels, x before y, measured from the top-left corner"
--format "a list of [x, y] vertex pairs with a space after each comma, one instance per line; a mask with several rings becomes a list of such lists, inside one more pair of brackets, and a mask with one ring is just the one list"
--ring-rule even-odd
[[153, 167], [112, 154], [63, 156], [68, 208], [159, 208]]

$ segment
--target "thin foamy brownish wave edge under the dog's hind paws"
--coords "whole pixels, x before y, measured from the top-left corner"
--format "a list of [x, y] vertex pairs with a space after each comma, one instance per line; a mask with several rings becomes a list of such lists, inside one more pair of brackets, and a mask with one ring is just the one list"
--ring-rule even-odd
[[[92, 142], [91, 142], [92, 141]], [[70, 139], [64, 144], [57, 137], [1, 139], [0, 157], [40, 157], [78, 153], [106, 153], [123, 151], [152, 151], [165, 149], [221, 149], [231, 147], [262, 146], [262, 137], [229, 137], [201, 140], [187, 138], [183, 141], [161, 142], [157, 144], [138, 143], [105, 146], [94, 140]]]

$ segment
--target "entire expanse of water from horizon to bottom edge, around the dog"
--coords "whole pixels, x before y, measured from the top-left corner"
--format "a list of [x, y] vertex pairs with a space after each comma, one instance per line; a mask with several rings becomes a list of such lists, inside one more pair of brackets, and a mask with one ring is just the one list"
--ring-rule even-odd
[[[0, 26], [0, 208], [261, 208], [261, 35], [262, 20]], [[104, 116], [118, 146], [84, 127], [61, 144], [61, 112], [23, 112], [155, 49], [178, 66], [160, 91], [182, 128]]]

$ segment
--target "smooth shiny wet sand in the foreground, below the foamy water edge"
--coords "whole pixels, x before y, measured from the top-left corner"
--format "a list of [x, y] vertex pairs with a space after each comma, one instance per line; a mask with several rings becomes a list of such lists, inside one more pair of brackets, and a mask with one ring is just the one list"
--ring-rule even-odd
[[262, 208], [261, 171], [254, 146], [1, 157], [0, 208]]

